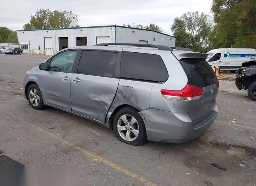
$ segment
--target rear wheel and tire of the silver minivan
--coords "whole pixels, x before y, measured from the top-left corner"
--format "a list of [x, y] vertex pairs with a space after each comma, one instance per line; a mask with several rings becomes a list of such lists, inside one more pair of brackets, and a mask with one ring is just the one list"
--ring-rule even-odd
[[[128, 129], [125, 129], [125, 127], [128, 127]], [[116, 113], [113, 120], [113, 130], [116, 138], [121, 142], [130, 145], [142, 145], [147, 142], [144, 121], [138, 111], [133, 108], [126, 107]], [[136, 133], [134, 133], [135, 131]]]

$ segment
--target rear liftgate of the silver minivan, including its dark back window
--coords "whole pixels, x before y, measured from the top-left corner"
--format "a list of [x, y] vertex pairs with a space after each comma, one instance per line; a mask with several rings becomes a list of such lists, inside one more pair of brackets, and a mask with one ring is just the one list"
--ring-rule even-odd
[[218, 93], [217, 78], [204, 59], [183, 58], [180, 64], [188, 77], [188, 84], [204, 88], [200, 99], [190, 103], [189, 116], [193, 123], [198, 123], [213, 112]]

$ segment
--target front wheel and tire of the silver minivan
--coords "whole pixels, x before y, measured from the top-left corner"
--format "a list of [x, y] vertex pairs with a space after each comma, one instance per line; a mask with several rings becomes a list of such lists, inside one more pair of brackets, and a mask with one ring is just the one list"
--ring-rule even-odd
[[[36, 90], [36, 91], [35, 91]], [[33, 95], [30, 93], [30, 91], [32, 91], [32, 93], [34, 93], [34, 97]], [[45, 105], [43, 103], [43, 98], [42, 98], [42, 93], [38, 87], [38, 85], [36, 84], [32, 84], [28, 87], [28, 93], [27, 93], [27, 96], [28, 96], [28, 102], [29, 104], [31, 105], [31, 107], [33, 109], [36, 109], [36, 110], [42, 110], [45, 108]], [[35, 99], [36, 97], [36, 99]], [[32, 101], [34, 99], [34, 101]], [[36, 101], [37, 100], [37, 101]]]

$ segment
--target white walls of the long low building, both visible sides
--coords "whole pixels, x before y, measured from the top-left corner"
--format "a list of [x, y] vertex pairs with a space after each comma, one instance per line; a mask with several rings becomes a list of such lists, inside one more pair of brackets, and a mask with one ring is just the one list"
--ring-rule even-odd
[[[134, 31], [134, 32], [132, 32]], [[139, 40], [148, 41], [148, 44], [175, 46], [175, 38], [148, 30], [123, 28], [121, 26], [102, 26], [67, 29], [42, 29], [17, 31], [18, 42], [28, 45], [24, 53], [45, 54], [44, 38], [52, 38], [52, 55], [59, 50], [59, 37], [68, 37], [68, 47], [76, 46], [76, 37], [87, 37], [87, 45], [95, 45], [96, 37], [110, 37], [111, 42], [139, 43]], [[116, 36], [116, 40], [115, 40]], [[154, 41], [155, 38], [155, 41]], [[39, 50], [40, 46], [40, 50]]]

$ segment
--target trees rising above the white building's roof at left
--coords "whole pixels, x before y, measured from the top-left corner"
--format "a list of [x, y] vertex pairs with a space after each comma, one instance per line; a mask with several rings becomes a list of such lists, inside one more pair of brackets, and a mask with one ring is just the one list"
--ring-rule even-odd
[[23, 29], [48, 29], [48, 28], [69, 28], [78, 26], [77, 15], [72, 11], [58, 11], [51, 12], [49, 9], [36, 10], [34, 16], [31, 15], [29, 23], [24, 24]]

